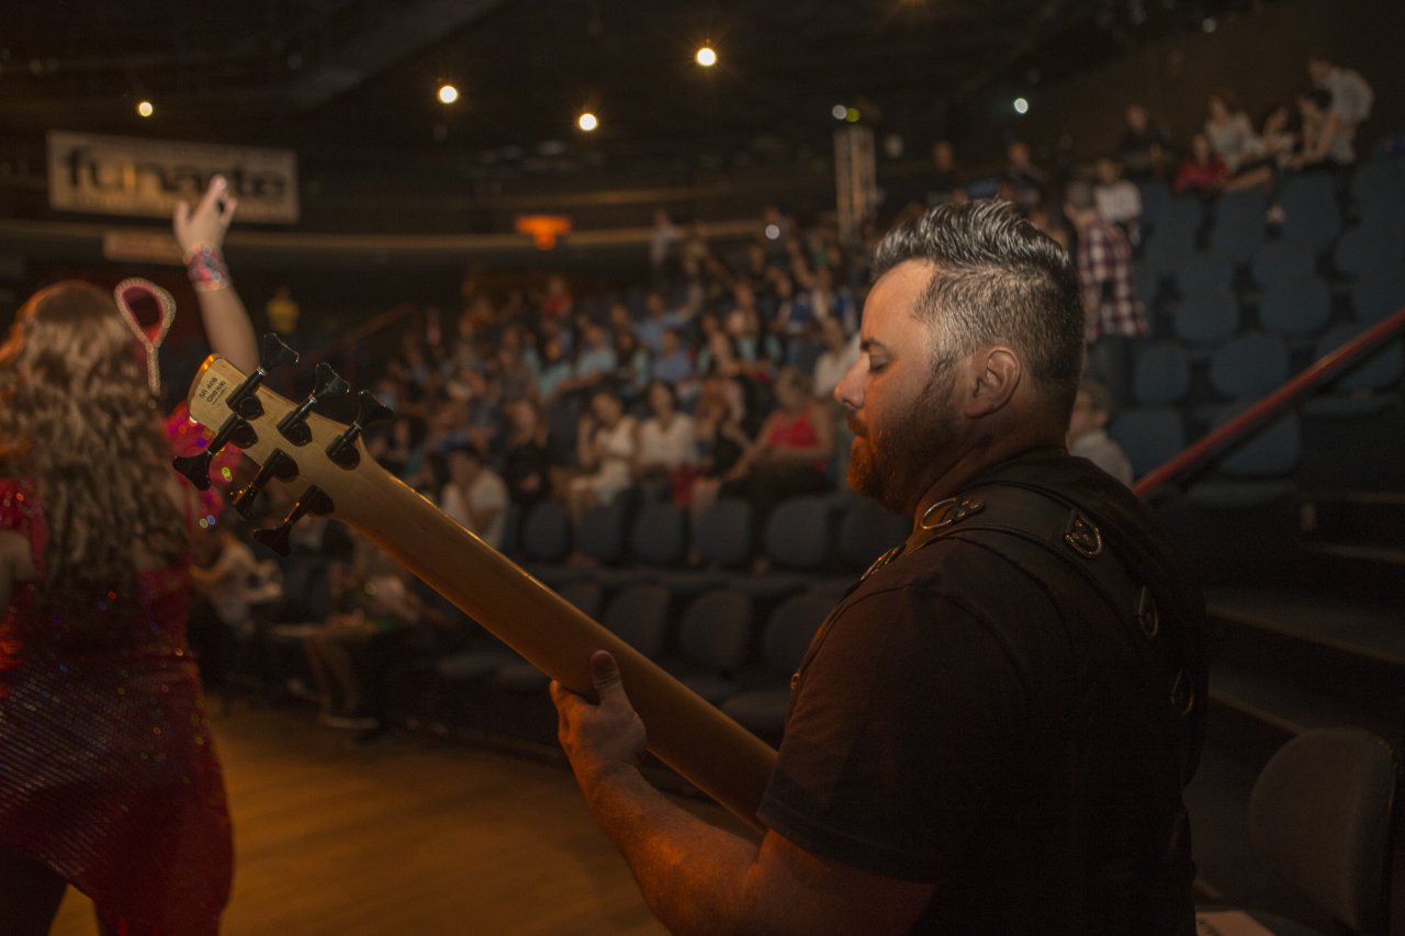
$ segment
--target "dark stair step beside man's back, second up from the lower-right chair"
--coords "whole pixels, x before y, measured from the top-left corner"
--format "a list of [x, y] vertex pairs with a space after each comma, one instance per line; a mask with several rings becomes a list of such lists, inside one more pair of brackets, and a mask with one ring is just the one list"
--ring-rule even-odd
[[1405, 666], [1405, 614], [1356, 607], [1318, 594], [1217, 587], [1205, 592], [1210, 616], [1329, 646], [1391, 666]]

